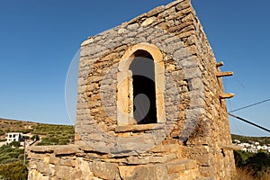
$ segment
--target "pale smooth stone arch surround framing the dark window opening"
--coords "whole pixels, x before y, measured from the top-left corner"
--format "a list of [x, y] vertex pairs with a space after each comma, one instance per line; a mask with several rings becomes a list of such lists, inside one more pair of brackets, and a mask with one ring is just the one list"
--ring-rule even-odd
[[162, 52], [154, 45], [139, 43], [127, 49], [121, 58], [117, 74], [117, 121], [119, 125], [136, 124], [133, 117], [133, 84], [130, 64], [138, 53], [148, 54], [154, 61], [157, 123], [165, 122], [165, 67]]

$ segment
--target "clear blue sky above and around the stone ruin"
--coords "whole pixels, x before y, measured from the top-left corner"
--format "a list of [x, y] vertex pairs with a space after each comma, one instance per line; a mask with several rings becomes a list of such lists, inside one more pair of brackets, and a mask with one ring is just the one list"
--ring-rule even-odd
[[[111, 29], [169, 0], [0, 1], [0, 117], [70, 124], [68, 66], [88, 36]], [[193, 0], [223, 71], [233, 110], [270, 98], [270, 2]], [[270, 102], [235, 112], [270, 129]], [[269, 136], [230, 119], [233, 133]]]

